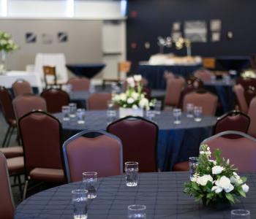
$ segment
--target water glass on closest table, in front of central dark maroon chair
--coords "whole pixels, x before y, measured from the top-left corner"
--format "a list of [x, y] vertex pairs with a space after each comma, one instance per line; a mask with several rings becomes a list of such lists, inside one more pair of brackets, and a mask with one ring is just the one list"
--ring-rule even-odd
[[137, 186], [138, 185], [138, 162], [125, 162], [125, 176], [127, 180], [127, 186]]

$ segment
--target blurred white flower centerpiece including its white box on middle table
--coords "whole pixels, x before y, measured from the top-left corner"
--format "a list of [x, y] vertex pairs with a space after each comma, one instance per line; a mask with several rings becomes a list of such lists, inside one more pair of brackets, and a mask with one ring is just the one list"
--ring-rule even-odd
[[119, 106], [119, 117], [127, 115], [143, 116], [143, 110], [149, 110], [154, 101], [146, 99], [141, 85], [141, 75], [127, 78], [127, 91], [113, 95], [113, 102]]

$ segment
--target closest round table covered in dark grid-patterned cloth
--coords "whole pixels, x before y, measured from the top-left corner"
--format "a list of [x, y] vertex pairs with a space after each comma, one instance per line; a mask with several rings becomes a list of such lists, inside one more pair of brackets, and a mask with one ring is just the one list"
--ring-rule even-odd
[[[99, 178], [97, 198], [88, 202], [88, 218], [127, 218], [127, 206], [145, 204], [146, 218], [230, 218], [230, 210], [246, 209], [256, 218], [256, 174], [244, 174], [250, 187], [241, 202], [228, 210], [211, 210], [182, 191], [188, 172], [142, 173], [137, 187], [127, 187], [124, 176]], [[15, 219], [73, 218], [71, 191], [83, 183], [69, 183], [35, 194], [15, 210]]]

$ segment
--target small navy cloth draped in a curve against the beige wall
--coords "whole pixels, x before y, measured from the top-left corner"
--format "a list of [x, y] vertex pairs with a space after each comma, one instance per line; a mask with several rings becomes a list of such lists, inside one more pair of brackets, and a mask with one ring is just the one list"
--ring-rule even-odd
[[76, 76], [92, 78], [105, 67], [105, 64], [67, 64], [66, 66]]

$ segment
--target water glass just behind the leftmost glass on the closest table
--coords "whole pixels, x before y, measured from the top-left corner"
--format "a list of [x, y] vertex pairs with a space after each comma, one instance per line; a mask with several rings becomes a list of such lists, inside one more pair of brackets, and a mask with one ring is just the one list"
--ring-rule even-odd
[[88, 199], [97, 197], [97, 172], [83, 172], [83, 183], [88, 191]]

